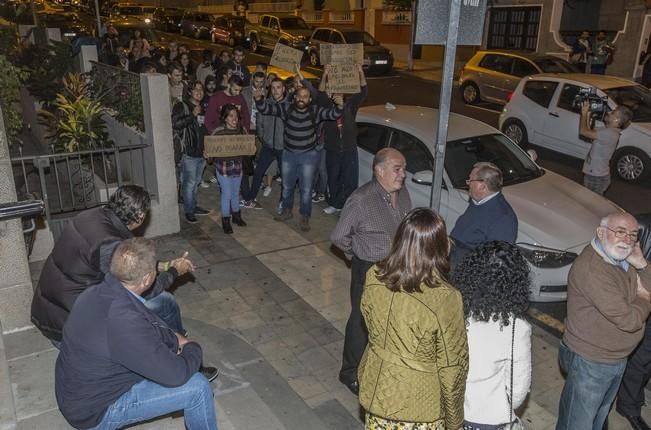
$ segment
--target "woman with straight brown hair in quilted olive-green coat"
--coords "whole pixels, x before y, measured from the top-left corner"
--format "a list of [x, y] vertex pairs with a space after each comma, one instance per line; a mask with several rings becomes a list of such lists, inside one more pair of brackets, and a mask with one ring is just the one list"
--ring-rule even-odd
[[447, 282], [445, 222], [407, 214], [391, 254], [371, 267], [362, 295], [369, 342], [359, 400], [370, 430], [457, 430], [463, 425], [468, 343], [461, 294]]

